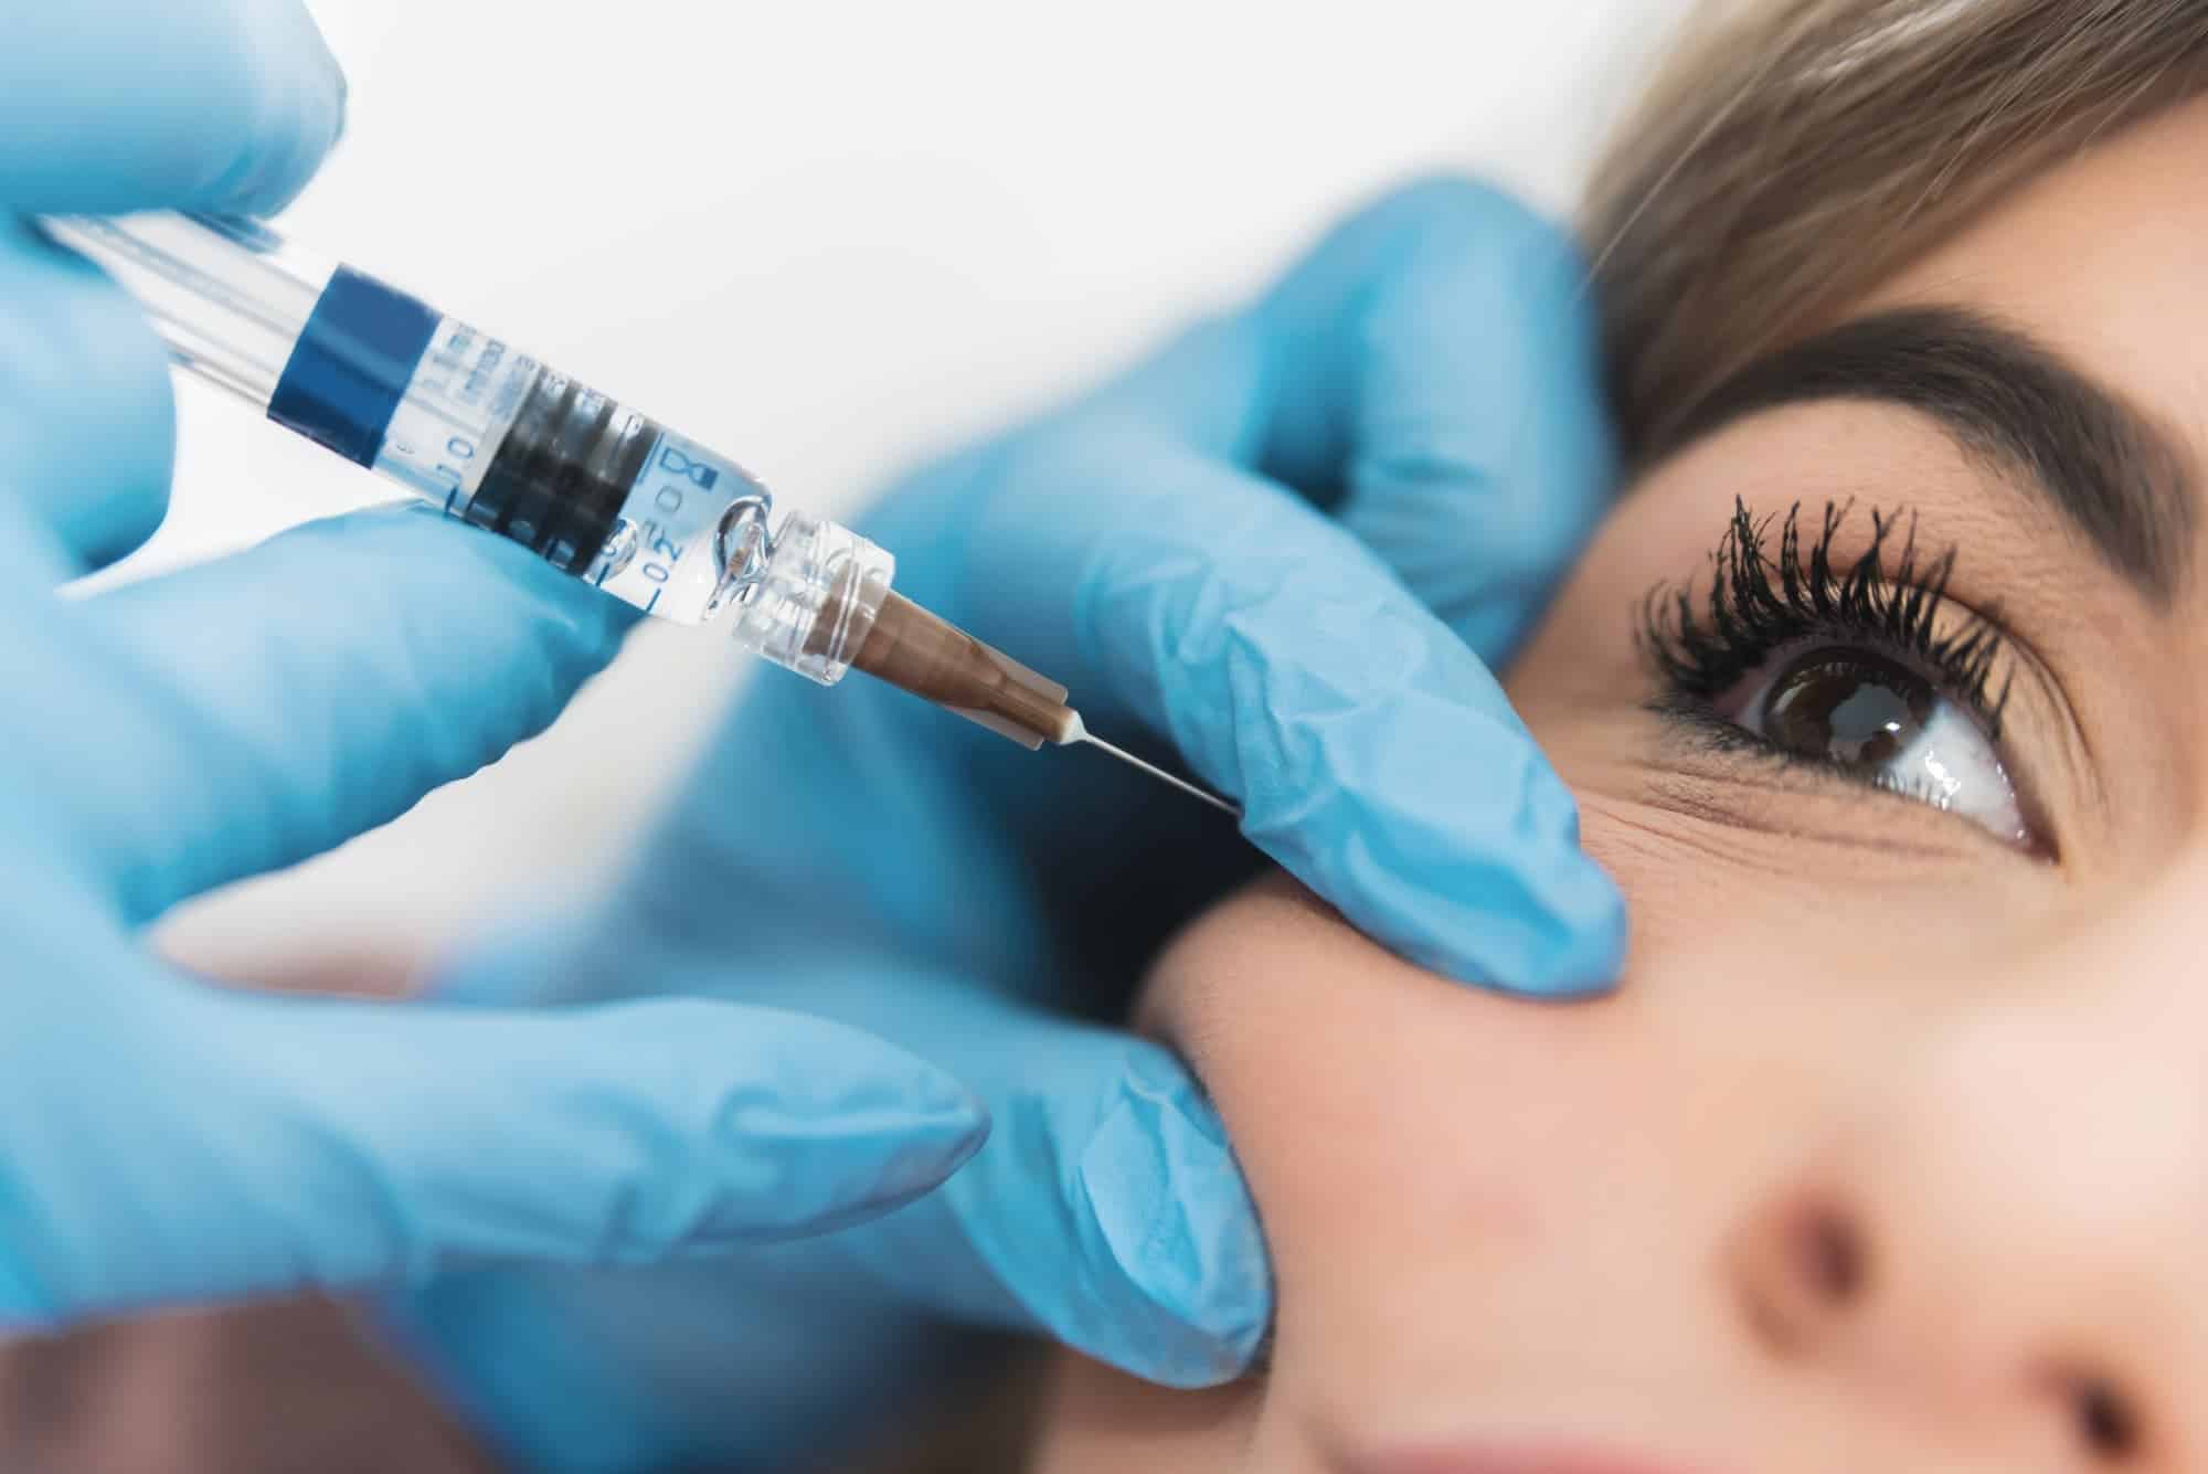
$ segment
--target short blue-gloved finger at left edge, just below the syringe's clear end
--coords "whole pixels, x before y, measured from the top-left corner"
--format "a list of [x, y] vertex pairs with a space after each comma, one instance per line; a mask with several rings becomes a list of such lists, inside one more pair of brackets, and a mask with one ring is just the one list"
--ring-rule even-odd
[[168, 512], [174, 446], [168, 349], [146, 313], [91, 263], [0, 216], [9, 563], [46, 585], [128, 554]]

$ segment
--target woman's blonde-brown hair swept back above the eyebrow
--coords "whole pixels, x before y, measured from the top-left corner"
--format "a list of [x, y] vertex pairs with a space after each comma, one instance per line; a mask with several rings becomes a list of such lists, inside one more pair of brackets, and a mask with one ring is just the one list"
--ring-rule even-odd
[[1722, 380], [2018, 183], [2208, 90], [2208, 0], [1724, 0], [1596, 172], [1638, 463]]

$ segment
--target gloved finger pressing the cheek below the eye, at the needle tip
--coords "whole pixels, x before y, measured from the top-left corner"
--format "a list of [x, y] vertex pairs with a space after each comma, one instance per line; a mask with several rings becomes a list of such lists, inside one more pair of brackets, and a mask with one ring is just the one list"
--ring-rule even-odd
[[976, 488], [921, 602], [1084, 713], [1168, 735], [1241, 799], [1243, 834], [1413, 962], [1543, 995], [1612, 984], [1623, 902], [1572, 794], [1479, 658], [1345, 527], [1104, 417], [1025, 439]]

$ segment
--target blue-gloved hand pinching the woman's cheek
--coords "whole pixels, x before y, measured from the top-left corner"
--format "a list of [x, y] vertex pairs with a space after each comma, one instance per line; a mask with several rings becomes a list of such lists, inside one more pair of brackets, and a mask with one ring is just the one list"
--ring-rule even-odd
[[[1572, 247], [1462, 183], [1336, 229], [1254, 307], [901, 485], [899, 587], [1159, 733], [1243, 834], [1459, 978], [1607, 984], [1623, 920], [1486, 662], [1612, 485]], [[1040, 1326], [1170, 1384], [1270, 1315], [1212, 1110], [1113, 1017], [1248, 872], [1232, 823], [1100, 755], [1027, 755], [863, 677], [764, 677], [601, 916], [457, 962], [486, 1002], [707, 993], [819, 1011], [952, 1068], [994, 1134], [832, 1242], [656, 1275], [486, 1273], [400, 1309], [532, 1467], [835, 1465], [925, 1399], [927, 1313]], [[1252, 1008], [1265, 1000], [1252, 995]]]

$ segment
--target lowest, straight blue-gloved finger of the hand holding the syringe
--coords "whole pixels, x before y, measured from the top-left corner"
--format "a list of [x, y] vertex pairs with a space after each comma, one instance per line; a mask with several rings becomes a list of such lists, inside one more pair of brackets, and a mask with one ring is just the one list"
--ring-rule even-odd
[[[128, 993], [135, 1030], [117, 1037], [159, 1030], [132, 1068], [40, 1092], [18, 1070], [24, 1099], [73, 1110], [13, 1112], [9, 1161], [124, 1167], [46, 1174], [0, 1205], [15, 1271], [0, 1322], [819, 1233], [934, 1187], [985, 1134], [941, 1070], [764, 1008]], [[22, 1066], [62, 1077], [84, 1057]]]

